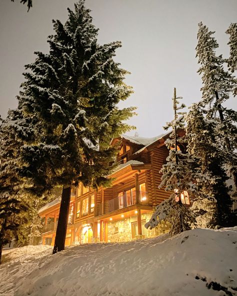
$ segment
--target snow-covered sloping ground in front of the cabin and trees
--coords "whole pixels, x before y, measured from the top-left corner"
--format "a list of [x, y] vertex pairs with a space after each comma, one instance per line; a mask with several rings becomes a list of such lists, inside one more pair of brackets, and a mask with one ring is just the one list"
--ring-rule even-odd
[[86, 244], [55, 255], [49, 246], [6, 250], [0, 295], [237, 295], [237, 227]]

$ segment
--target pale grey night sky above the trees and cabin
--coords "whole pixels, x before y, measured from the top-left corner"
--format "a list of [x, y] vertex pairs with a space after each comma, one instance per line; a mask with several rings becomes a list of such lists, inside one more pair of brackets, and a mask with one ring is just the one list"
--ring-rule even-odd
[[[19, 0], [0, 0], [0, 114], [15, 108], [24, 65], [33, 51], [48, 51], [52, 19], [64, 22], [74, 0], [33, 0], [27, 12]], [[140, 136], [155, 136], [172, 118], [173, 87], [183, 102], [200, 99], [201, 79], [196, 73], [197, 23], [202, 21], [219, 43], [218, 53], [228, 56], [225, 30], [237, 21], [237, 0], [86, 0], [99, 43], [121, 40], [116, 61], [131, 72], [126, 83], [134, 93], [121, 106], [137, 106], [129, 122]], [[234, 107], [234, 102], [228, 102]], [[236, 103], [235, 103], [236, 107]], [[130, 132], [131, 135], [134, 131]]]

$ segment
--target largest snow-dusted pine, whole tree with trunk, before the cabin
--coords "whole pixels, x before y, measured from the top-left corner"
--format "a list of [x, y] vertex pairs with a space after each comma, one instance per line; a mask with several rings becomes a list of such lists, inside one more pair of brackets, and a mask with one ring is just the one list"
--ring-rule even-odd
[[63, 186], [53, 253], [64, 249], [71, 185], [108, 182], [115, 153], [109, 140], [131, 128], [122, 121], [134, 110], [117, 107], [132, 92], [123, 82], [128, 72], [113, 60], [120, 42], [97, 43], [84, 0], [68, 12], [64, 25], [53, 21], [49, 53], [36, 52], [26, 66], [18, 98], [24, 117], [35, 122], [34, 140], [21, 147], [23, 172], [36, 187]]

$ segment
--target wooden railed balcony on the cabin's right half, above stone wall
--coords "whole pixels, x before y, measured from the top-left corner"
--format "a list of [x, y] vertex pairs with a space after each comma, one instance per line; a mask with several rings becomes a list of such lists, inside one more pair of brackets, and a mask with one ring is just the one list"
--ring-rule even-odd
[[114, 210], [125, 208], [133, 204], [148, 204], [147, 192], [139, 191], [139, 196], [136, 196], [136, 191], [132, 191], [129, 194], [124, 194], [105, 200], [103, 203], [99, 203], [95, 206], [94, 215], [99, 216]]

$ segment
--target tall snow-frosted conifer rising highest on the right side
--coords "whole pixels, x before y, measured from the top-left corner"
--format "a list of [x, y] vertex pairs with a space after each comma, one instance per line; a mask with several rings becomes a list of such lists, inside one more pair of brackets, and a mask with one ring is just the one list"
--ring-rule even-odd
[[[201, 74], [203, 83], [201, 87], [202, 99], [199, 104], [206, 114], [206, 118], [215, 120], [215, 136], [218, 139], [218, 145], [225, 151], [223, 162], [230, 167], [236, 183], [237, 158], [234, 149], [237, 144], [237, 112], [223, 105], [231, 93], [235, 91], [236, 79], [231, 73], [224, 70], [222, 55], [216, 56], [215, 54], [218, 43], [212, 36], [214, 32], [208, 31], [202, 22], [198, 26], [196, 57], [198, 57], [198, 63], [201, 66], [197, 72]], [[231, 48], [234, 47], [233, 40], [231, 44], [233, 44]]]

